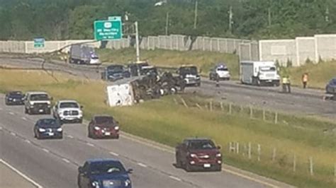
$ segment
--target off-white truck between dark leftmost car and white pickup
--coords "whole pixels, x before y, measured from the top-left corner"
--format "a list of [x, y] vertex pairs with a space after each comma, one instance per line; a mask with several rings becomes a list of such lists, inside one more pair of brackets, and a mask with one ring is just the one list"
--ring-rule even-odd
[[50, 114], [51, 113], [50, 96], [42, 91], [27, 92], [25, 95], [25, 113], [26, 114]]

